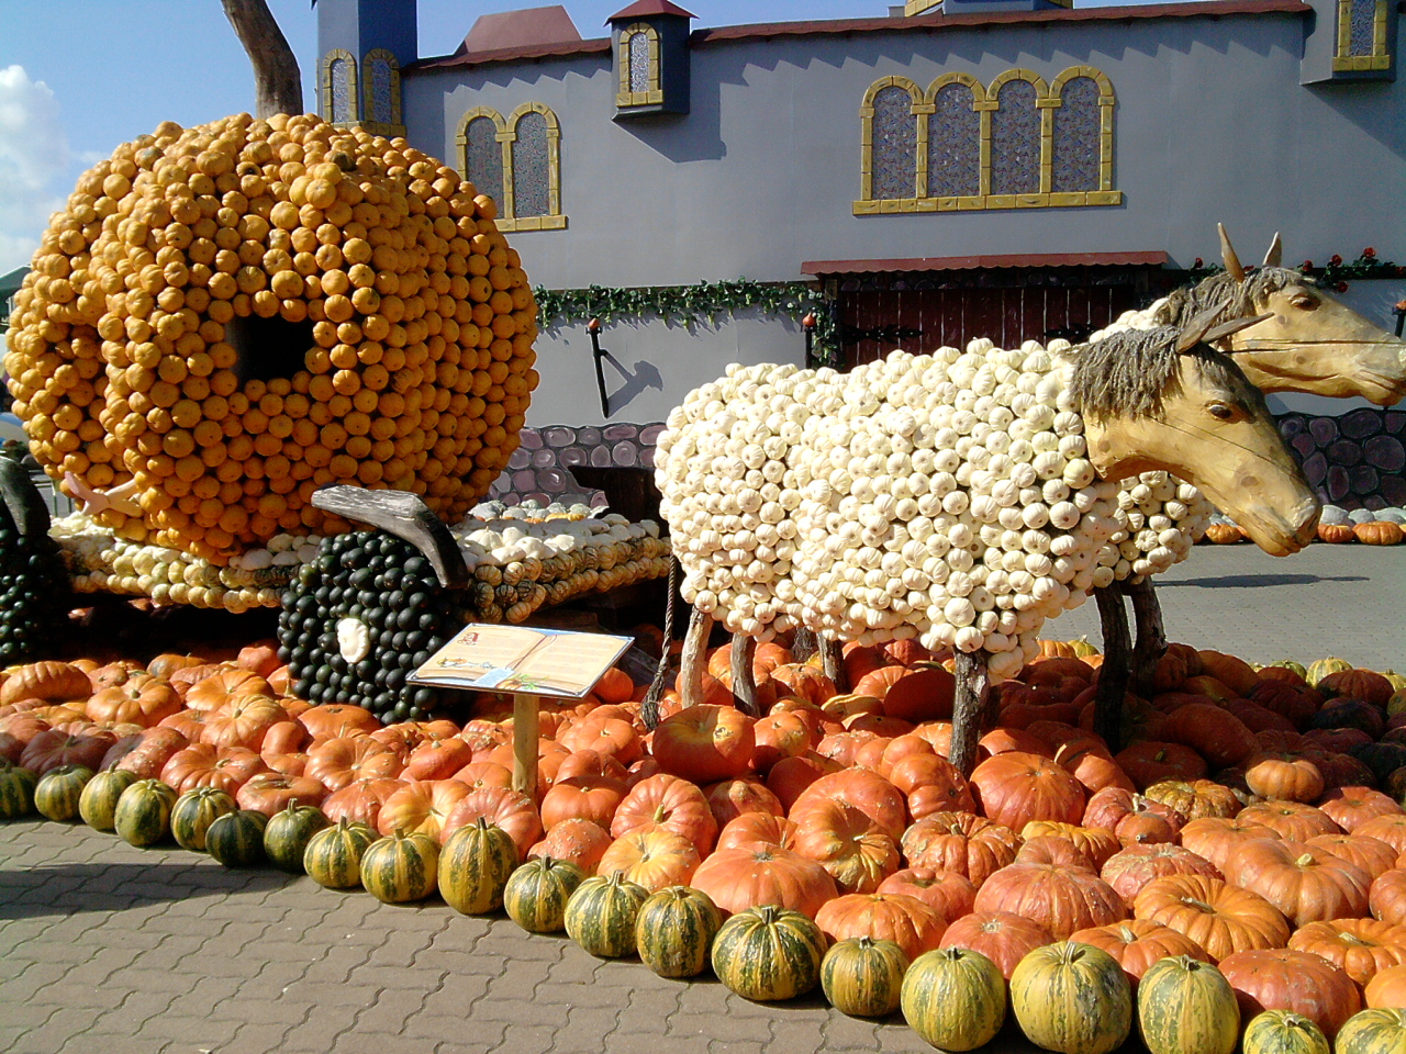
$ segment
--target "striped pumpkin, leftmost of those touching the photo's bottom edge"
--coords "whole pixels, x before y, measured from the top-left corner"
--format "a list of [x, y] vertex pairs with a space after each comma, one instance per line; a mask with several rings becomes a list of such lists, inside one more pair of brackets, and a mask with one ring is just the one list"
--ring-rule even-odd
[[900, 994], [903, 1017], [939, 1050], [976, 1050], [1005, 1024], [1005, 978], [980, 951], [945, 947], [912, 960]]

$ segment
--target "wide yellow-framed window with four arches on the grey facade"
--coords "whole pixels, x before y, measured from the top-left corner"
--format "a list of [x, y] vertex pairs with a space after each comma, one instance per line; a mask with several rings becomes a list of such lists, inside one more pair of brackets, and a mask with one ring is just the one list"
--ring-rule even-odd
[[1092, 66], [1053, 84], [1011, 69], [988, 86], [943, 73], [918, 94], [904, 77], [865, 93], [855, 215], [1118, 205], [1114, 86]]

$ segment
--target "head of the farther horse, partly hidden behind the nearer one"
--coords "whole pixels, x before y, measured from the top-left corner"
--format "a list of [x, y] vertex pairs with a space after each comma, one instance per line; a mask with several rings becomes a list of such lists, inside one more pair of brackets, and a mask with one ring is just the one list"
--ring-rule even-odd
[[1222, 318], [1265, 315], [1226, 346], [1250, 384], [1263, 392], [1355, 395], [1378, 406], [1406, 398], [1406, 341], [1334, 299], [1302, 271], [1284, 267], [1278, 235], [1264, 263], [1246, 270], [1225, 226], [1219, 230], [1225, 274], [1187, 291], [1184, 301], [1199, 311], [1219, 299]]

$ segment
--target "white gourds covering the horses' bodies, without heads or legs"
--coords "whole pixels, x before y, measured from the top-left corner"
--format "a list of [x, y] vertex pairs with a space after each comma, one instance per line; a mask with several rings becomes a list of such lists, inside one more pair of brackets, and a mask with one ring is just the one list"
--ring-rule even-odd
[[690, 392], [655, 460], [683, 599], [761, 639], [917, 637], [1012, 676], [1046, 618], [1171, 566], [1211, 512], [1167, 474], [1095, 478], [1067, 347], [733, 365]]

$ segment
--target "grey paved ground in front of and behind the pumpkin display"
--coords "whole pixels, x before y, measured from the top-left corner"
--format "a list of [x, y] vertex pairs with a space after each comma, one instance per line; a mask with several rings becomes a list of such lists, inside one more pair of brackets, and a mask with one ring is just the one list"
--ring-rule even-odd
[[[1251, 587], [1253, 586], [1253, 587]], [[1164, 576], [1174, 639], [1406, 668], [1406, 548], [1271, 561], [1201, 548]], [[1080, 620], [1087, 620], [1081, 623]], [[1077, 611], [1054, 637], [1088, 632]], [[1130, 1050], [1140, 1050], [1136, 1043]], [[749, 1003], [434, 899], [391, 906], [44, 821], [0, 825], [6, 1054], [810, 1054], [931, 1050], [818, 996]], [[1033, 1050], [1002, 1034], [993, 1054]]]

